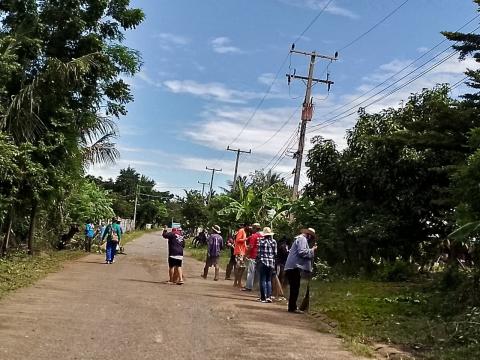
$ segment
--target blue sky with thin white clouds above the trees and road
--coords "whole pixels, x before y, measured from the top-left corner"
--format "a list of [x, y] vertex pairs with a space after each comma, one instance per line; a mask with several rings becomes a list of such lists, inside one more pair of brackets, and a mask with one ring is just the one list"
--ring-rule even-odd
[[[333, 55], [404, 1], [333, 0], [296, 42], [296, 49]], [[291, 56], [281, 65], [292, 42], [327, 3], [327, 0], [132, 1], [132, 6], [142, 8], [146, 14], [146, 21], [126, 37], [126, 45], [139, 50], [144, 61], [142, 71], [126, 79], [135, 102], [128, 106], [128, 115], [119, 121], [120, 160], [114, 166], [91, 168], [90, 173], [115, 178], [119, 169], [130, 165], [153, 178], [160, 190], [181, 194], [182, 188], [201, 189], [197, 181], [210, 180], [205, 170], [209, 166], [223, 169], [215, 178], [217, 188], [233, 177], [235, 154], [225, 151], [230, 145], [252, 149], [252, 155], [240, 159], [240, 174], [276, 165], [274, 171], [290, 178], [294, 167], [291, 157], [285, 156], [278, 164], [271, 160], [279, 150], [283, 153], [282, 147], [289, 139], [293, 139], [293, 145], [300, 119], [298, 106], [305, 91], [299, 81], [289, 87], [285, 74], [296, 69], [297, 74], [306, 75], [308, 58]], [[314, 87], [316, 109], [309, 127], [355, 107], [376, 91], [361, 97], [363, 94], [386, 79], [392, 77], [377, 90], [427, 63], [449, 45], [445, 42], [428, 52], [443, 40], [440, 31], [454, 31], [476, 14], [471, 0], [410, 0], [376, 29], [340, 51], [337, 62], [318, 61], [315, 76], [324, 78], [328, 72], [335, 84], [330, 93], [320, 84]], [[478, 23], [477, 18], [463, 30], [472, 31]], [[424, 58], [408, 66], [422, 54]], [[442, 53], [436, 61], [448, 54], [448, 51]], [[434, 63], [428, 62], [398, 84]], [[437, 83], [454, 84], [464, 77], [467, 66], [472, 68], [476, 64], [459, 62], [453, 56], [410, 85], [372, 104], [367, 111], [398, 106], [410, 93]], [[277, 72], [280, 76], [271, 86]], [[271, 91], [258, 106], [270, 86]], [[456, 88], [453, 96], [464, 89]], [[381, 94], [372, 100], [380, 97]], [[346, 108], [332, 112], [345, 104]], [[317, 126], [316, 131], [314, 128], [308, 131], [307, 138], [321, 135], [334, 139], [342, 147], [345, 130], [354, 121], [354, 116], [348, 116], [327, 127]], [[269, 141], [263, 144], [266, 140]], [[303, 171], [301, 185], [305, 181]]]

